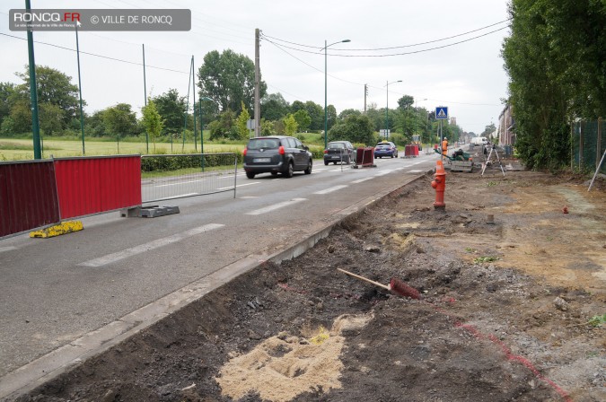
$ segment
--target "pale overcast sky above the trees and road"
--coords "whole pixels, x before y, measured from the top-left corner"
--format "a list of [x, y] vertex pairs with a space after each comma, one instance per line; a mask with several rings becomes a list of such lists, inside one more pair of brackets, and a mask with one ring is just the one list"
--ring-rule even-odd
[[[259, 29], [261, 79], [268, 84], [268, 93], [279, 92], [289, 103], [312, 100], [323, 107], [326, 74], [328, 103], [338, 112], [363, 110], [367, 84], [367, 107], [382, 109], [388, 104], [395, 109], [403, 95], [411, 95], [417, 107], [448, 107], [449, 117], [456, 118], [464, 131], [479, 134], [491, 123], [498, 127], [507, 97], [508, 77], [500, 57], [510, 33], [507, 3], [31, 0], [31, 8], [191, 10], [191, 31], [80, 31], [82, 93], [88, 113], [122, 102], [140, 112], [145, 103], [143, 45], [147, 96], [171, 88], [187, 96], [192, 91], [192, 56], [196, 71], [213, 50], [232, 49], [254, 61]], [[0, 5], [0, 82], [22, 83], [15, 73], [28, 65], [27, 41], [22, 40], [26, 33], [8, 28], [9, 10], [24, 7], [24, 0], [2, 0]], [[38, 42], [36, 64], [55, 68], [77, 84], [75, 33], [34, 31], [33, 39]], [[331, 45], [344, 39], [350, 42]]]

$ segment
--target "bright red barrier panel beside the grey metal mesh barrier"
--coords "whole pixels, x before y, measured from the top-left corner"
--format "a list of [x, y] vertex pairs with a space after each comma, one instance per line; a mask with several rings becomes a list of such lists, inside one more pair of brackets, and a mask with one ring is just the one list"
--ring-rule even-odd
[[141, 205], [141, 157], [55, 160], [61, 219]]

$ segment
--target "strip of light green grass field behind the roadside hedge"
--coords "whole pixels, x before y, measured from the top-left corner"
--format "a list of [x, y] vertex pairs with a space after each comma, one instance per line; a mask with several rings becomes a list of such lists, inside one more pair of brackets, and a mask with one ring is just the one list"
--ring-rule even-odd
[[[241, 153], [245, 147], [242, 144], [204, 144], [205, 153]], [[42, 158], [50, 159], [68, 156], [83, 156], [82, 140], [44, 139]], [[172, 149], [171, 149], [172, 148]], [[147, 154], [145, 142], [110, 142], [107, 140], [84, 138], [85, 156], [116, 155], [116, 154]], [[149, 144], [149, 153], [195, 153], [193, 143], [180, 141], [172, 144]], [[198, 153], [200, 144], [198, 144]], [[0, 161], [23, 161], [33, 159], [33, 142], [31, 139], [0, 138]]]

